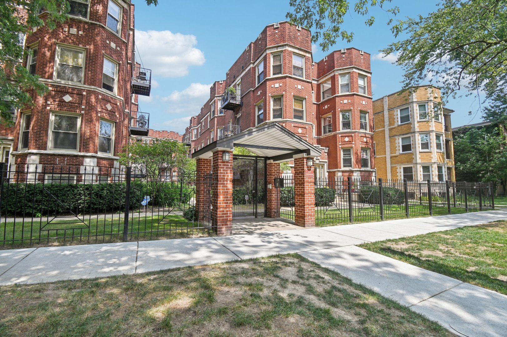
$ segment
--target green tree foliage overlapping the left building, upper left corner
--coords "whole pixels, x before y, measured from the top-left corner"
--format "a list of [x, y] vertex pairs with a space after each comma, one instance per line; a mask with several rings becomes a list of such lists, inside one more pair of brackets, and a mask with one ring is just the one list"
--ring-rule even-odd
[[[157, 5], [158, 0], [146, 0], [147, 5]], [[39, 15], [41, 9], [44, 14]], [[46, 26], [52, 30], [68, 18], [70, 6], [67, 0], [7, 0], [0, 2], [0, 118], [12, 125], [12, 107], [22, 108], [32, 104], [27, 89], [38, 95], [48, 92], [48, 87], [23, 67], [29, 51], [23, 49], [24, 34], [34, 27]], [[23, 15], [25, 13], [25, 15]], [[26, 20], [24, 19], [26, 17]]]

